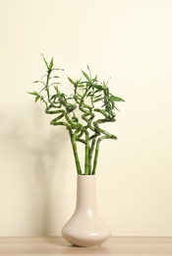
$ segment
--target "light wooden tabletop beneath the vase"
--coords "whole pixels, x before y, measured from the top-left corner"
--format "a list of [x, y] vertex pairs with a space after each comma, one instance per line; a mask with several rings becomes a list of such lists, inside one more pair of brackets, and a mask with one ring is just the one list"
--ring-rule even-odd
[[172, 237], [114, 236], [95, 247], [76, 247], [62, 237], [0, 237], [0, 255], [172, 256]]

